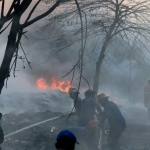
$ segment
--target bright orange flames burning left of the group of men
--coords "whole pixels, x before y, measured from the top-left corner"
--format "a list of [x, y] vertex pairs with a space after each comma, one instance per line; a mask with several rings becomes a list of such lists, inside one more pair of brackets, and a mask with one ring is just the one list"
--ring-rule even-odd
[[55, 77], [51, 78], [51, 85], [49, 85], [44, 78], [39, 78], [36, 81], [37, 87], [42, 90], [53, 89], [62, 92], [68, 92], [71, 87], [70, 81], [59, 81]]

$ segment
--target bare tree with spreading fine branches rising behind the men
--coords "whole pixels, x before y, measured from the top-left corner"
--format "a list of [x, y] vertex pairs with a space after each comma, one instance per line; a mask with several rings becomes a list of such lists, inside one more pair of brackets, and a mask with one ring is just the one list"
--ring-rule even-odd
[[[63, 22], [64, 19], [68, 19], [68, 26], [73, 24], [76, 27], [73, 28], [71, 32], [66, 32], [66, 35], [64, 32], [62, 32], [62, 37], [70, 36], [70, 39], [67, 40], [67, 42], [59, 41], [59, 38], [57, 39], [57, 37], [56, 39], [53, 39], [53, 51], [55, 54], [72, 46], [76, 42], [79, 42], [81, 40], [79, 33], [82, 30], [84, 31], [84, 41], [86, 41], [87, 38], [101, 36], [101, 39], [103, 40], [99, 40], [101, 46], [97, 48], [98, 53], [94, 58], [94, 60], [96, 60], [96, 70], [94, 72], [93, 89], [97, 93], [102, 62], [107, 56], [106, 50], [108, 50], [108, 46], [110, 45], [110, 42], [112, 42], [112, 39], [115, 39], [116, 37], [122, 41], [125, 41], [126, 43], [130, 43], [127, 46], [127, 51], [129, 52], [132, 51], [130, 45], [133, 44], [136, 37], [138, 37], [136, 38], [137, 41], [139, 40], [141, 43], [143, 41], [145, 42], [144, 47], [146, 47], [146, 43], [150, 41], [150, 1], [94, 0], [79, 1], [79, 3], [81, 10], [84, 11], [87, 16], [86, 18], [88, 19], [87, 25], [85, 24], [86, 21], [84, 21], [83, 29], [81, 29], [79, 26], [80, 24], [74, 21], [76, 18], [78, 19], [78, 14], [73, 3], [70, 3], [72, 7], [69, 5], [67, 11], [64, 10], [64, 12], [62, 11], [63, 13], [61, 15], [56, 15], [55, 19], [50, 18], [49, 23], [44, 28], [48, 28], [51, 26], [51, 24], [57, 22]], [[84, 17], [84, 15], [82, 15], [82, 17]], [[67, 26], [67, 23], [62, 24], [62, 27], [63, 26]], [[61, 45], [60, 49], [57, 48], [59, 42]], [[140, 46], [138, 46], [137, 49], [140, 49]], [[145, 50], [149, 53], [148, 47]], [[94, 52], [95, 49], [93, 48], [90, 50], [89, 54], [93, 55]], [[142, 55], [144, 55], [144, 53]], [[143, 59], [142, 61], [144, 62], [145, 60]]]

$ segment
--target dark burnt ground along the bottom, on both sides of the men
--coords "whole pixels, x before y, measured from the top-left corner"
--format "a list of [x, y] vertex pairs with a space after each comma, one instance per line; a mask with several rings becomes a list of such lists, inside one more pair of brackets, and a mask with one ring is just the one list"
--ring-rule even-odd
[[[56, 117], [61, 113], [53, 113], [51, 111], [24, 113], [24, 114], [7, 114], [3, 116], [2, 128], [4, 134], [7, 135], [18, 129], [34, 123]], [[138, 116], [137, 116], [138, 117]], [[67, 116], [59, 119], [29, 128], [20, 133], [5, 138], [2, 144], [3, 150], [55, 150], [54, 143], [56, 135], [68, 125], [76, 124], [76, 117], [71, 117], [66, 122]], [[127, 120], [127, 129], [120, 139], [120, 150], [150, 150], [150, 127], [141, 125], [130, 119]], [[51, 129], [55, 127], [52, 132]], [[106, 128], [107, 130], [107, 128]], [[103, 150], [107, 150], [106, 144], [107, 134], [102, 138], [104, 145]]]

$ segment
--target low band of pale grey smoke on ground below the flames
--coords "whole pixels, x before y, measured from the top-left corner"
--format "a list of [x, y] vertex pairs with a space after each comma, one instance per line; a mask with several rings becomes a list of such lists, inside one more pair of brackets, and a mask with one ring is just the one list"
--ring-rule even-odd
[[[60, 107], [61, 106], [61, 107]], [[67, 112], [73, 106], [69, 95], [59, 91], [11, 93], [1, 96], [3, 114], [44, 112]]]

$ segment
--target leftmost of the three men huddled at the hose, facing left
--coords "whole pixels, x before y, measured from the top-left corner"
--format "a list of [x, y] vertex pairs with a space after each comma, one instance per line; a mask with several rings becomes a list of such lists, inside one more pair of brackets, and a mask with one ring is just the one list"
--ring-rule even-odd
[[71, 87], [69, 89], [69, 95], [74, 103], [74, 107], [75, 107], [74, 114], [76, 114], [79, 117], [81, 111], [81, 103], [82, 103], [82, 99], [78, 96], [79, 92], [76, 88]]

